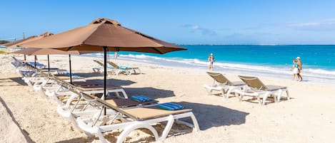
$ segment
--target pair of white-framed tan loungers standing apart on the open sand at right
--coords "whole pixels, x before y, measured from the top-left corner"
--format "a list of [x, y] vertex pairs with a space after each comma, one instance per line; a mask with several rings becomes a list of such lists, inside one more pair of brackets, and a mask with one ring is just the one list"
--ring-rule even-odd
[[207, 72], [207, 74], [214, 79], [213, 85], [204, 85], [204, 88], [209, 95], [216, 90], [221, 92], [225, 99], [229, 98], [231, 92], [234, 92], [235, 96], [239, 97], [240, 101], [244, 96], [256, 97], [259, 105], [265, 105], [268, 97], [274, 97], [274, 102], [279, 102], [281, 100], [282, 92], [286, 92], [287, 100], [290, 99], [287, 87], [265, 85], [257, 77], [239, 75], [241, 81], [231, 82], [221, 73]]

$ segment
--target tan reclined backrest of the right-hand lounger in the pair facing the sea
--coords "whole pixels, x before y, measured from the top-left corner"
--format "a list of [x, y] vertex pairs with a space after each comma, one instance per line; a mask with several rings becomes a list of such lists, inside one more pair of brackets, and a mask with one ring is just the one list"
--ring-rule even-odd
[[259, 80], [257, 77], [251, 77], [251, 76], [243, 76], [239, 75], [239, 78], [246, 83], [250, 88], [254, 88], [257, 90], [269, 90], [264, 83]]

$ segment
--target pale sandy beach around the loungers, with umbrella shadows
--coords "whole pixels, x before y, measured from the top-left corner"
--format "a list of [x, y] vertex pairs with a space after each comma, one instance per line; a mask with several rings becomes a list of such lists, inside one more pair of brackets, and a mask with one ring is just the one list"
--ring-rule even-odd
[[[77, 131], [70, 122], [56, 112], [56, 102], [31, 90], [21, 80], [19, 73], [9, 64], [11, 55], [0, 55], [0, 142], [99, 142]], [[15, 55], [23, 59], [23, 55]], [[33, 60], [33, 56], [28, 56]], [[39, 63], [46, 64], [46, 55], [39, 55]], [[87, 79], [103, 79], [93, 73], [97, 67], [94, 59], [72, 56], [72, 71]], [[51, 67], [69, 69], [67, 55], [50, 55]], [[110, 83], [119, 85], [128, 95], [146, 95], [159, 102], [181, 102], [193, 110], [200, 131], [174, 125], [163, 142], [334, 142], [335, 135], [335, 88], [332, 84], [296, 82], [291, 79], [259, 77], [269, 85], [289, 88], [291, 100], [261, 106], [256, 100], [245, 97], [239, 101], [207, 95], [204, 84], [213, 82], [206, 70], [175, 68], [126, 60], [114, 60], [120, 65], [141, 68], [143, 74], [111, 75]], [[215, 67], [214, 67], [215, 70]], [[224, 73], [224, 71], [219, 71]], [[230, 80], [237, 75], [224, 73]], [[157, 127], [158, 129], [160, 127]], [[115, 142], [119, 132], [106, 134]], [[129, 142], [154, 142], [144, 131], [130, 134]]]

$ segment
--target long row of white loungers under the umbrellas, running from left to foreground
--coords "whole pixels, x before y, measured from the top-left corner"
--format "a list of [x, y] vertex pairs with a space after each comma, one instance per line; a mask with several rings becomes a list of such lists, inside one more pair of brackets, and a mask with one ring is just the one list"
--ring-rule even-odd
[[[88, 137], [99, 137], [101, 142], [107, 142], [105, 132], [121, 130], [116, 141], [120, 143], [131, 131], [143, 128], [149, 129], [156, 141], [161, 141], [167, 137], [171, 127], [176, 125], [174, 122], [199, 130], [192, 110], [178, 103], [159, 103], [143, 95], [129, 96], [124, 88], [115, 85], [108, 86], [105, 99], [102, 80], [81, 79], [69, 83], [69, 78], [59, 73], [51, 74], [36, 69], [16, 58], [14, 63], [12, 65], [20, 65], [14, 66], [19, 72], [34, 72], [29, 76], [22, 75], [22, 79], [31, 84], [33, 90], [56, 101], [57, 112], [61, 117], [69, 120]], [[191, 122], [181, 120], [186, 117]], [[166, 122], [166, 126], [159, 134], [153, 125], [161, 122]]]

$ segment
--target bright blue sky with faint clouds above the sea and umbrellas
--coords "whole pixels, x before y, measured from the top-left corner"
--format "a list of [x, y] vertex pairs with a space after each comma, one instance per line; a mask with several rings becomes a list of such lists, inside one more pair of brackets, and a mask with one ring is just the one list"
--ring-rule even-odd
[[335, 1], [1, 1], [0, 39], [111, 18], [178, 44], [335, 44]]

